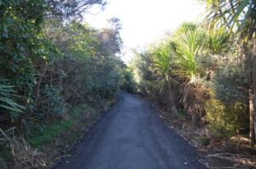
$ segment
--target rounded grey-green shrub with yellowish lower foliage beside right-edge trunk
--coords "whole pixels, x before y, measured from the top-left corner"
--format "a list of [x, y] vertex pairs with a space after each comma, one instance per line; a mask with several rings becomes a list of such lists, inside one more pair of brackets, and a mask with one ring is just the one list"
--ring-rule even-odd
[[213, 77], [215, 99], [207, 103], [207, 120], [223, 137], [248, 131], [247, 84], [247, 74], [232, 62], [219, 65]]

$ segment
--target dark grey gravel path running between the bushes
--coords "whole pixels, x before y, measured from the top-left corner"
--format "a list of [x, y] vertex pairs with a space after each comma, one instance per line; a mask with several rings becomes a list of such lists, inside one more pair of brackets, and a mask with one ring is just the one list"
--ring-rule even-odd
[[120, 93], [119, 103], [53, 168], [204, 168], [198, 159], [196, 150], [166, 127], [147, 101]]

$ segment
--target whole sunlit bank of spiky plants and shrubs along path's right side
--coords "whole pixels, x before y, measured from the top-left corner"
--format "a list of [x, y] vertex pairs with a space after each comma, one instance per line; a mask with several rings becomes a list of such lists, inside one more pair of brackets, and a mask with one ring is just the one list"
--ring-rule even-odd
[[[239, 138], [236, 146], [255, 148], [256, 3], [204, 3], [205, 20], [185, 22], [159, 42], [135, 52], [130, 68], [137, 93], [154, 99], [172, 121], [180, 119], [181, 134], [191, 133], [192, 140], [203, 142], [204, 148], [195, 144], [202, 151], [219, 141], [227, 144]], [[217, 152], [214, 158], [236, 159]], [[242, 150], [236, 152], [240, 158]], [[253, 167], [253, 161], [243, 163]]]

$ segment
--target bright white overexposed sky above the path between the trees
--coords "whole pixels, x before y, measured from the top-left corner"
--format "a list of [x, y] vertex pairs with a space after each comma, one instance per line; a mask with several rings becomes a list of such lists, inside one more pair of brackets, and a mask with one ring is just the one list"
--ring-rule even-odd
[[[196, 0], [108, 0], [103, 11], [91, 8], [84, 21], [102, 28], [107, 20], [117, 17], [122, 24], [120, 36], [124, 53], [131, 48], [142, 48], [175, 31], [184, 21], [200, 21], [204, 7]], [[129, 56], [125, 54], [124, 59]]]

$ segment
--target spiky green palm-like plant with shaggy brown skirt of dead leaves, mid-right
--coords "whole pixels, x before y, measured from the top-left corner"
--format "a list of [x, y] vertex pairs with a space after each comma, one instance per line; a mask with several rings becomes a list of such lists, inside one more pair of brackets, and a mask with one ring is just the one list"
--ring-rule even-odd
[[[192, 27], [193, 28], [193, 27]], [[181, 101], [184, 110], [191, 115], [197, 115], [195, 107], [201, 99], [201, 66], [200, 54], [204, 33], [199, 29], [183, 29], [178, 35], [178, 53], [175, 59], [177, 76], [183, 77]], [[197, 106], [198, 107], [198, 106]], [[201, 106], [199, 106], [201, 107]]]

